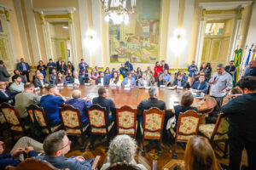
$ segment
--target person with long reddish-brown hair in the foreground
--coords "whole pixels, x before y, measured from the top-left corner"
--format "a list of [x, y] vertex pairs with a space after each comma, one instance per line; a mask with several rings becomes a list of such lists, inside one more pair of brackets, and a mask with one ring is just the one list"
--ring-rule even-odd
[[218, 170], [218, 163], [212, 145], [208, 139], [201, 136], [192, 136], [187, 145], [184, 162], [173, 170]]

